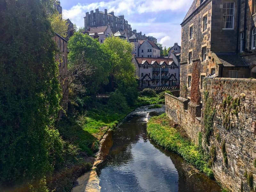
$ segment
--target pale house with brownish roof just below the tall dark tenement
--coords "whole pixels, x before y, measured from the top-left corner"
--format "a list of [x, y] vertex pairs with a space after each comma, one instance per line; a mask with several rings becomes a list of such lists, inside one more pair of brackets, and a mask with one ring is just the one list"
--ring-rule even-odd
[[113, 32], [109, 25], [102, 27], [87, 28], [86, 33], [94, 39], [98, 38], [100, 43], [103, 43], [107, 37], [113, 35]]

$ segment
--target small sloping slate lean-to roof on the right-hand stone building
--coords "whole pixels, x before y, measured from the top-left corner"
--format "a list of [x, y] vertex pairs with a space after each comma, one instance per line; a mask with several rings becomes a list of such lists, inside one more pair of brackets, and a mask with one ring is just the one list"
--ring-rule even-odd
[[247, 63], [235, 53], [217, 53], [224, 67], [248, 67]]

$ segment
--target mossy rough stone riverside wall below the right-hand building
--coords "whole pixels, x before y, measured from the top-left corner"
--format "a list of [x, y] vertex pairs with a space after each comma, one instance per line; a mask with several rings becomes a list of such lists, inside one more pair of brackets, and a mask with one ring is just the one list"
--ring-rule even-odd
[[[196, 117], [196, 109], [188, 100], [165, 94], [166, 114], [180, 124], [188, 136], [198, 144], [198, 133], [203, 133], [203, 148], [216, 148], [212, 164], [215, 178], [231, 191], [250, 191], [245, 172], [252, 173], [256, 186], [256, 79], [204, 78], [204, 92], [212, 99], [213, 131], [210, 145], [205, 142], [204, 114], [206, 101], [203, 95], [202, 115]], [[197, 110], [198, 112], [198, 110]], [[222, 147], [225, 146], [227, 161]]]

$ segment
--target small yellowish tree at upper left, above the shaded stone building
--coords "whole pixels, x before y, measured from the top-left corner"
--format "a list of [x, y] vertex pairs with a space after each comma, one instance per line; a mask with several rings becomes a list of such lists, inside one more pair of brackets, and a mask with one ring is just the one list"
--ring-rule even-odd
[[52, 25], [54, 32], [58, 33], [60, 36], [66, 38], [68, 36], [68, 23], [66, 20], [62, 19], [59, 12], [55, 12], [49, 16], [49, 20]]

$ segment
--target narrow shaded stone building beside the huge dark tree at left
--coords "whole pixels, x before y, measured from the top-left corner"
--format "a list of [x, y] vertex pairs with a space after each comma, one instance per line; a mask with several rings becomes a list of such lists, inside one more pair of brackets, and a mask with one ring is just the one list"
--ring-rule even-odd
[[[58, 33], [55, 33], [54, 41], [55, 41], [55, 44], [57, 45], [57, 49], [59, 50], [59, 53], [56, 54], [55, 56], [55, 60], [58, 63], [58, 68], [60, 73], [59, 80], [60, 80], [60, 85], [63, 93], [61, 107], [64, 110], [67, 110], [68, 109], [68, 89], [67, 89], [68, 81], [66, 77], [68, 72], [68, 66], [67, 66], [67, 60], [68, 60], [67, 43], [68, 42], [65, 38], [60, 36]], [[63, 113], [60, 114], [60, 116], [62, 115]]]

